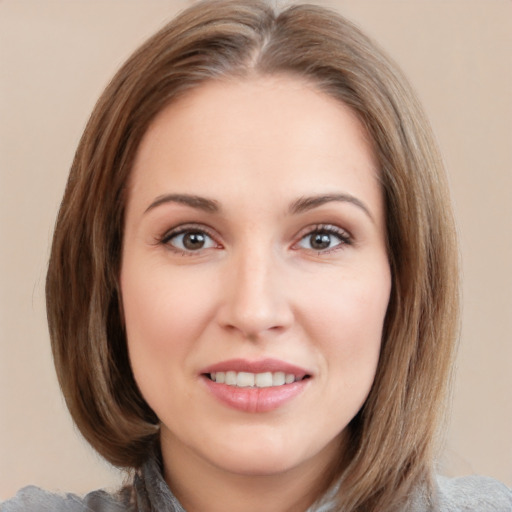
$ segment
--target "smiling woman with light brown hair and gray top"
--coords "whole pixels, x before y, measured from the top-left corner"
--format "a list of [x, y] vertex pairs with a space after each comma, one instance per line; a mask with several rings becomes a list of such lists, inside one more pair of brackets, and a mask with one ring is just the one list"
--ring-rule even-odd
[[364, 35], [190, 8], [96, 106], [47, 278], [70, 412], [133, 481], [2, 510], [511, 509], [433, 475], [454, 238], [428, 123]]

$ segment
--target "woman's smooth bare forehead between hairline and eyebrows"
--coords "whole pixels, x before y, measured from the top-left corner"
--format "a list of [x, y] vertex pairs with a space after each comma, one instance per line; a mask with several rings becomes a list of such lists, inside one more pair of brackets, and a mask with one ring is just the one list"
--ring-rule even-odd
[[377, 167], [345, 104], [298, 78], [254, 77], [207, 82], [165, 108], [139, 146], [130, 188], [222, 194], [227, 182], [250, 182], [256, 193], [270, 179], [302, 195], [337, 188], [343, 175], [349, 189], [375, 188]]

